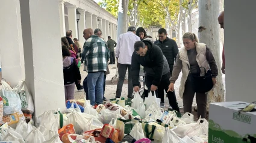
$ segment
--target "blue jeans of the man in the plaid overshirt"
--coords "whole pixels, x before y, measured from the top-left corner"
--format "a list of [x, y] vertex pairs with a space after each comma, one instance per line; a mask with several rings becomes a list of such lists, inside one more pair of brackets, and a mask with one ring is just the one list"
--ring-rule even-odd
[[95, 103], [97, 105], [102, 104], [104, 73], [104, 71], [88, 73], [88, 99], [93, 106]]

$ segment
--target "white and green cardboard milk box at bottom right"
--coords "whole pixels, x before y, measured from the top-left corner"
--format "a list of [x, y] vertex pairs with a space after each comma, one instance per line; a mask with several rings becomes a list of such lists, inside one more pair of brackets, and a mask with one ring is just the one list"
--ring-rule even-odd
[[240, 112], [249, 103], [211, 103], [208, 143], [256, 143], [256, 109]]

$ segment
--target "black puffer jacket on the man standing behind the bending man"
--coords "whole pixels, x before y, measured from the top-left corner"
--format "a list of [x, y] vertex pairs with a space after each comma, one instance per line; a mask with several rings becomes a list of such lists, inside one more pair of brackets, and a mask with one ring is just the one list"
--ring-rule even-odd
[[174, 61], [176, 60], [176, 56], [179, 52], [176, 41], [167, 37], [166, 40], [164, 40], [163, 42], [160, 40], [157, 40], [154, 42], [154, 44], [156, 44], [158, 47], [160, 47], [164, 56], [167, 59], [170, 70], [172, 71]]

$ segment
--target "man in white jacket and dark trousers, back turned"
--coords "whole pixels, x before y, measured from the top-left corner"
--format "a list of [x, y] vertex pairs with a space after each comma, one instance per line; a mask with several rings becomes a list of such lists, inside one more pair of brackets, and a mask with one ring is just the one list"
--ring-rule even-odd
[[134, 52], [134, 43], [140, 41], [140, 37], [135, 35], [136, 28], [128, 27], [128, 32], [120, 34], [116, 46], [116, 60], [118, 68], [118, 82], [116, 89], [116, 98], [122, 94], [123, 81], [128, 68], [128, 98], [133, 99], [133, 84], [131, 79], [131, 56]]

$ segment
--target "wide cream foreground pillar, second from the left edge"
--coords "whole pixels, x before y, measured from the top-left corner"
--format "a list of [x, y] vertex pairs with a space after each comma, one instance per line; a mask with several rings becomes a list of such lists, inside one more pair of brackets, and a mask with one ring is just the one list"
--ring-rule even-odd
[[65, 109], [58, 5], [58, 1], [20, 0], [26, 82], [35, 117], [46, 110]]

